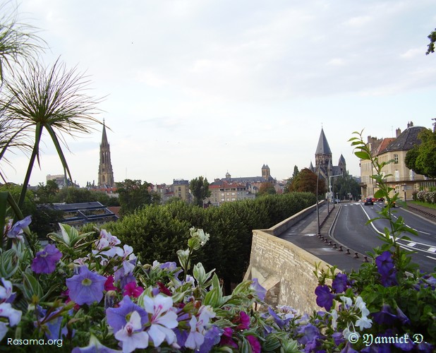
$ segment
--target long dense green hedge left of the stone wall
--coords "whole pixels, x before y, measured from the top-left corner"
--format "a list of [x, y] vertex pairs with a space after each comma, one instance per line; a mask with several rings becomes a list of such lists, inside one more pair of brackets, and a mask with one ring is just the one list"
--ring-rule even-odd
[[253, 229], [270, 228], [314, 203], [313, 193], [265, 195], [206, 209], [179, 201], [145, 206], [106, 228], [133, 246], [143, 263], [176, 261], [176, 251], [186, 248], [189, 228], [202, 228], [210, 241], [195, 253], [193, 263], [215, 268], [229, 288], [231, 282], [241, 282], [248, 268]]

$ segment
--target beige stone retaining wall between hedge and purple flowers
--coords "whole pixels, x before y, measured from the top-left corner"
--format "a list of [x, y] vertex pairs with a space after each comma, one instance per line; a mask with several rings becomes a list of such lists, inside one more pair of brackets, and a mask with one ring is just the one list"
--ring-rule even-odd
[[265, 301], [271, 306], [289, 305], [300, 313], [321, 308], [316, 304], [315, 264], [328, 264], [267, 230], [253, 230], [250, 266], [246, 280], [258, 278], [267, 289]]

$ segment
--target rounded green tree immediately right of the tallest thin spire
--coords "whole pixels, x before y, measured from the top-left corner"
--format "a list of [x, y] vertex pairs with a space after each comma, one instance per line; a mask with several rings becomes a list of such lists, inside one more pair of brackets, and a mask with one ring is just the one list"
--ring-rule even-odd
[[127, 215], [144, 205], [159, 203], [160, 198], [157, 193], [149, 191], [150, 184], [147, 181], [126, 179], [121, 183], [116, 183], [119, 193], [120, 214]]

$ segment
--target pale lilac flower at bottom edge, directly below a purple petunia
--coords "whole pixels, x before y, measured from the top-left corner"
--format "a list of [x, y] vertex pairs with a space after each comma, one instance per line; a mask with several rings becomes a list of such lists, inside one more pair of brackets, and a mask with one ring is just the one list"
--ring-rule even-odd
[[148, 335], [143, 331], [141, 318], [137, 311], [133, 311], [126, 325], [115, 333], [115, 338], [121, 342], [123, 353], [148, 347]]

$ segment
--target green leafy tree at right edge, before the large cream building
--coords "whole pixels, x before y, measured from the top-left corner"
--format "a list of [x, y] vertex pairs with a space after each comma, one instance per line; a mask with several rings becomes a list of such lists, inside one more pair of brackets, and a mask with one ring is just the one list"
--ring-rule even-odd
[[425, 177], [436, 178], [436, 132], [426, 128], [418, 138], [420, 145], [414, 145], [406, 154], [406, 167]]

